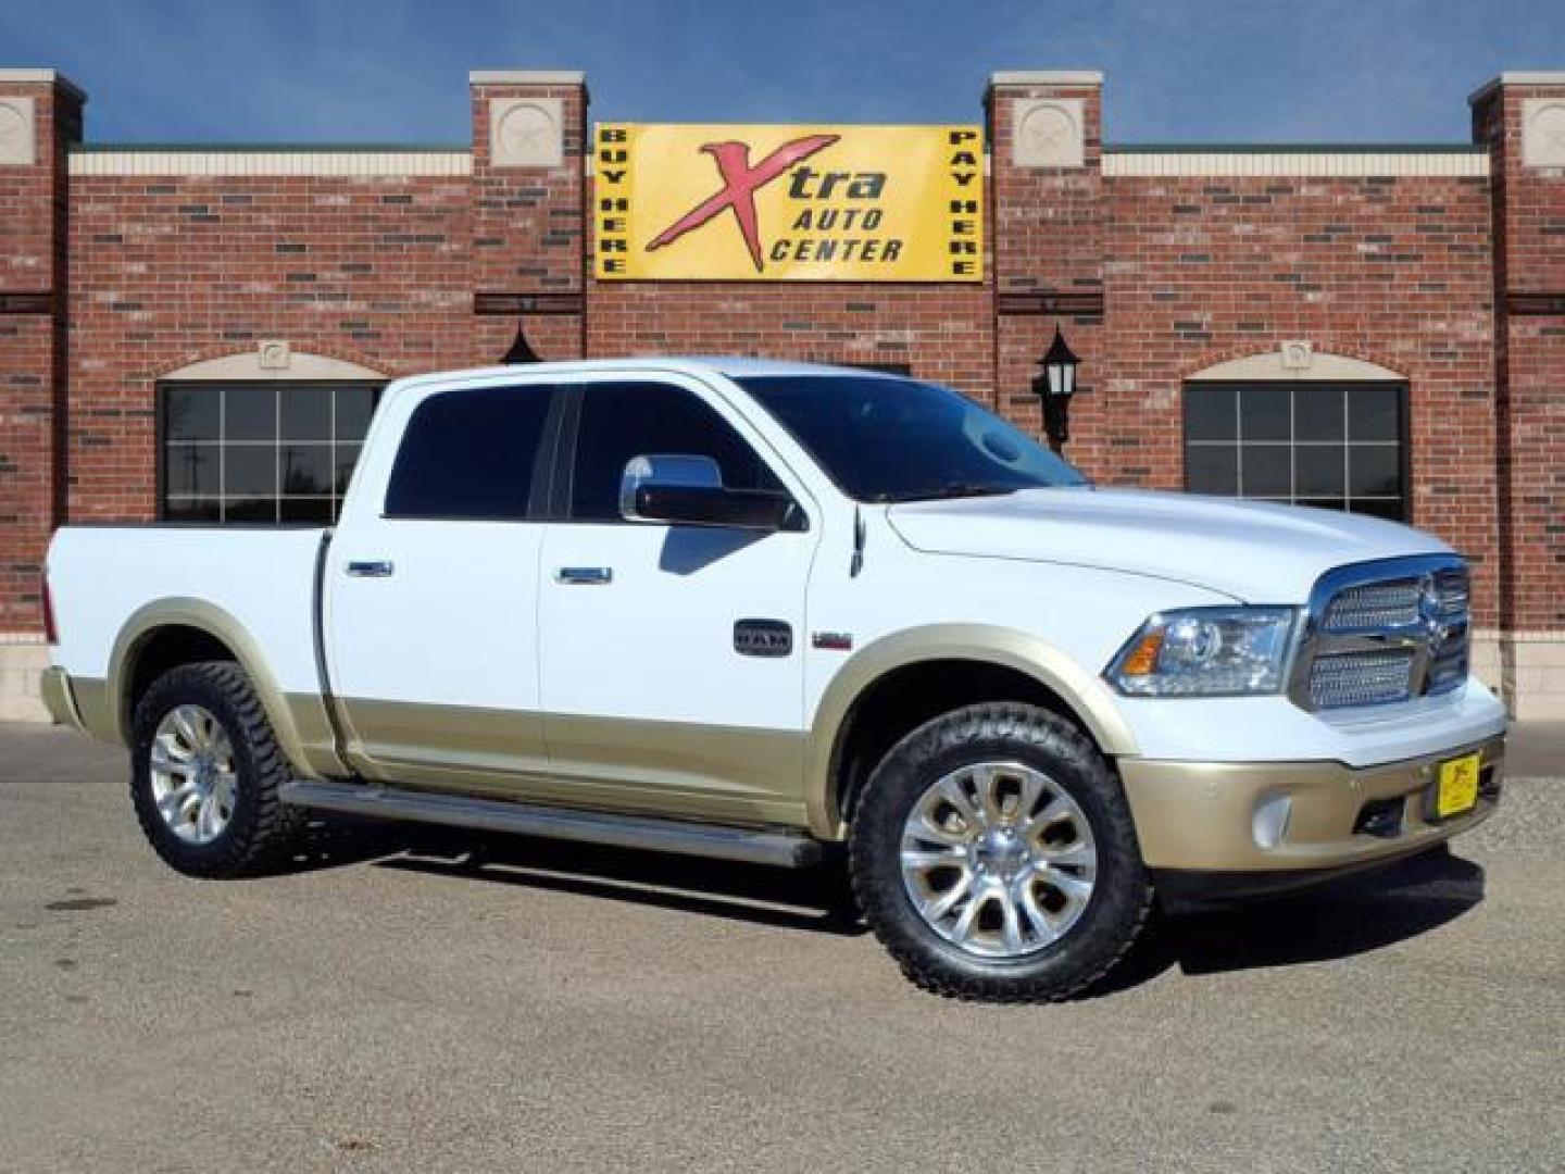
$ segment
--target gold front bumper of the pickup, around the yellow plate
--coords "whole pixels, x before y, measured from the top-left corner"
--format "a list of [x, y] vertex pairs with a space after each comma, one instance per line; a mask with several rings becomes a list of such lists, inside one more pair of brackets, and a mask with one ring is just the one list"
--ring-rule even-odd
[[[1437, 767], [1474, 750], [1480, 756], [1477, 805], [1437, 820], [1429, 803]], [[1119, 772], [1147, 867], [1227, 873], [1235, 878], [1227, 888], [1238, 894], [1410, 856], [1482, 823], [1499, 801], [1504, 756], [1506, 739], [1495, 736], [1358, 769], [1125, 758]]]

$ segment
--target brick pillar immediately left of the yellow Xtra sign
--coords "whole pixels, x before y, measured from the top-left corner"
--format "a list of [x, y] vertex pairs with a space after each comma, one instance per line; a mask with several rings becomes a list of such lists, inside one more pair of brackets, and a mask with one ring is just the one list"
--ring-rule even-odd
[[468, 81], [474, 362], [498, 362], [518, 322], [541, 358], [577, 358], [587, 266], [585, 75], [480, 70]]

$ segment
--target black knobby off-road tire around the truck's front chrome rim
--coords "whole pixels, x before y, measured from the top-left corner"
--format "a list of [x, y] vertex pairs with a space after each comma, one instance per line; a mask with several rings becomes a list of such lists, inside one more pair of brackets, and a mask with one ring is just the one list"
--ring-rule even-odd
[[[1086, 816], [1099, 853], [1094, 891], [1075, 925], [1020, 958], [983, 958], [945, 941], [914, 908], [901, 875], [901, 831], [912, 805], [950, 772], [984, 761], [1022, 762], [1049, 775]], [[1078, 996], [1125, 956], [1152, 905], [1130, 805], [1113, 769], [1072, 723], [1027, 704], [956, 709], [892, 747], [853, 814], [850, 867], [859, 908], [903, 974], [953, 999]]]

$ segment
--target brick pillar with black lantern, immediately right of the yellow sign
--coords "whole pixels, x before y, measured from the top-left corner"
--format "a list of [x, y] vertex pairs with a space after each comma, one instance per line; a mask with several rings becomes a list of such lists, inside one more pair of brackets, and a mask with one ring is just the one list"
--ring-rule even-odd
[[1103, 75], [1000, 72], [988, 94], [995, 399], [1042, 432], [1028, 390], [1060, 326], [1081, 358], [1066, 456], [1113, 479], [1097, 402], [1103, 349]]

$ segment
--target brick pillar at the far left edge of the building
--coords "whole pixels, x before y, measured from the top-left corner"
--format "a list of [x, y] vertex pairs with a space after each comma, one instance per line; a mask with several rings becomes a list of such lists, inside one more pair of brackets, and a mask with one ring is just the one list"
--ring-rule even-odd
[[38, 709], [39, 573], [66, 501], [66, 149], [85, 95], [0, 70], [0, 718]]

